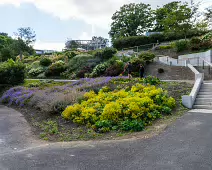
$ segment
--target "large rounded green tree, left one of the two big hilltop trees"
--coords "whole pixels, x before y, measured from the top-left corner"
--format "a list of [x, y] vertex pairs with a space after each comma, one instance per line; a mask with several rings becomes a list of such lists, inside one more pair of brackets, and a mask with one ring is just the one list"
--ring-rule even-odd
[[152, 28], [153, 20], [153, 10], [149, 4], [124, 5], [113, 14], [109, 35], [112, 39], [141, 35]]

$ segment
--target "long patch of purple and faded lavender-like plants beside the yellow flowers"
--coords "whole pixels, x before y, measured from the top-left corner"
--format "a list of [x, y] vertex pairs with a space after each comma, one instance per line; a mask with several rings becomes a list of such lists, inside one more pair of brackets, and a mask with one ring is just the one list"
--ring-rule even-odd
[[[0, 98], [0, 103], [16, 105], [19, 107], [30, 107], [42, 113], [61, 113], [61, 107], [77, 103], [83, 98], [85, 92], [90, 90], [98, 91], [107, 86], [112, 80], [126, 79], [126, 77], [99, 77], [82, 78], [76, 82], [62, 86], [48, 87], [14, 87], [6, 91]], [[57, 110], [58, 109], [58, 110]]]

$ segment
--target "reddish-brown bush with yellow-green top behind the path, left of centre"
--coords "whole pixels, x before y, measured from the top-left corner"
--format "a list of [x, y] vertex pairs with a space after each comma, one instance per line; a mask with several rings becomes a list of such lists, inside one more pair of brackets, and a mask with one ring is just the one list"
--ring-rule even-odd
[[65, 62], [63, 61], [57, 61], [56, 63], [53, 63], [45, 72], [45, 76], [60, 76], [62, 72], [66, 70]]

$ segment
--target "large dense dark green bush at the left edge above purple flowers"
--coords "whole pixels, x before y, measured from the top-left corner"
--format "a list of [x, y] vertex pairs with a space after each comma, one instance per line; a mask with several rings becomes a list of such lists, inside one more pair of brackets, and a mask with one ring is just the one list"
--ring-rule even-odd
[[8, 60], [0, 63], [0, 84], [17, 85], [24, 82], [25, 66], [21, 62]]

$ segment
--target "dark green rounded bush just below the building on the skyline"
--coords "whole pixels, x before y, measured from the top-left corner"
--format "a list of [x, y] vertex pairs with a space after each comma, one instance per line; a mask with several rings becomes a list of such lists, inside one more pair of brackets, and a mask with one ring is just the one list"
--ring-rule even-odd
[[116, 49], [115, 48], [104, 48], [103, 50], [97, 50], [96, 52], [94, 52], [94, 56], [104, 59], [104, 60], [108, 60], [110, 58], [112, 58], [114, 56], [114, 54], [116, 54]]

